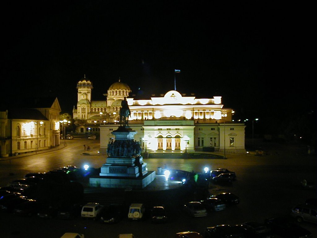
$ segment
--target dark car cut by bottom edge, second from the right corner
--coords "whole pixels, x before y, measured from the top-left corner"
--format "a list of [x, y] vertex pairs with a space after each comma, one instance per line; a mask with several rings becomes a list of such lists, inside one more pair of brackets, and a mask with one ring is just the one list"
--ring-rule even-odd
[[240, 228], [246, 238], [273, 238], [273, 233], [264, 223], [247, 221], [236, 225]]

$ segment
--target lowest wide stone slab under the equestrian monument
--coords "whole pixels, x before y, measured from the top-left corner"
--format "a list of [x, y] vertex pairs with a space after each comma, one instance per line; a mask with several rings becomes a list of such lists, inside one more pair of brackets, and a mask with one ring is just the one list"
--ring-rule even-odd
[[155, 179], [155, 171], [147, 171], [147, 174], [139, 177], [98, 176], [89, 178], [91, 187], [101, 188], [145, 188]]

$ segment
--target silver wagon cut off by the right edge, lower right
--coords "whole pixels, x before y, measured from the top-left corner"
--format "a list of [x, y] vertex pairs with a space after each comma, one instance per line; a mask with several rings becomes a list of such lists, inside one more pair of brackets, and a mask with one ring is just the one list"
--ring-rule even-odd
[[298, 222], [308, 221], [317, 223], [317, 208], [314, 205], [297, 204], [292, 208], [291, 216]]

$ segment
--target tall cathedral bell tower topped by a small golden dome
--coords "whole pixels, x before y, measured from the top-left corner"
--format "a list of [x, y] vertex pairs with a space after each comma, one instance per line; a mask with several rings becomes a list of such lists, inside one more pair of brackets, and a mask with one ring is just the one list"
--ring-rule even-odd
[[91, 89], [93, 84], [86, 78], [86, 75], [77, 83], [77, 119], [87, 120], [90, 113]]

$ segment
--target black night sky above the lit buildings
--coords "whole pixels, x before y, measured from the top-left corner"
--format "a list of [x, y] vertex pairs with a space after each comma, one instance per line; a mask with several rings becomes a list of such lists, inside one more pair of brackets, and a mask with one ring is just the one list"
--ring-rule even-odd
[[177, 91], [223, 96], [242, 118], [315, 110], [313, 3], [225, 2], [5, 3], [2, 96], [56, 96], [72, 113], [84, 74], [93, 100], [119, 77], [148, 98], [179, 69]]

